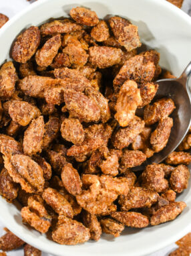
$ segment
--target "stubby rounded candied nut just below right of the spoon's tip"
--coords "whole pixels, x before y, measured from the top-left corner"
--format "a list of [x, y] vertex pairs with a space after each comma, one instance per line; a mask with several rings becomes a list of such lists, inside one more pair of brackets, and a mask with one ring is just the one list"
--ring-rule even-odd
[[146, 166], [146, 170], [142, 173], [142, 186], [159, 193], [168, 188], [168, 180], [164, 178], [164, 171], [160, 165]]

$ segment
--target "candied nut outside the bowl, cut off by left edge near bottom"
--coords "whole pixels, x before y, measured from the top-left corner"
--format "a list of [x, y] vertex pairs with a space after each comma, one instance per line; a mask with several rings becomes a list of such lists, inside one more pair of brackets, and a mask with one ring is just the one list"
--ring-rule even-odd
[[2, 251], [12, 251], [24, 245], [24, 241], [15, 236], [9, 229], [6, 229], [6, 234], [0, 237], [0, 249]]

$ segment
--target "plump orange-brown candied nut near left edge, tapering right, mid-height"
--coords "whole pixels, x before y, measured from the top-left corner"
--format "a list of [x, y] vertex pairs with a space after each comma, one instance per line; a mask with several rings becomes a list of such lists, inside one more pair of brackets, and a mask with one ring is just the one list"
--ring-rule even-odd
[[12, 101], [9, 105], [9, 115], [19, 125], [26, 126], [33, 118], [39, 117], [40, 111], [26, 101]]

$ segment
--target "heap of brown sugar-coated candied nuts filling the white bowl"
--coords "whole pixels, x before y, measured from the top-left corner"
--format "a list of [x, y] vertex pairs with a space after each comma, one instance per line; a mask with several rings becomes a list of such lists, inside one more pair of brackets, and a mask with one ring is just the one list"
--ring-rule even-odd
[[1, 195], [64, 245], [174, 220], [191, 162], [188, 133], [165, 164], [133, 172], [168, 143], [176, 107], [152, 100], [173, 76], [127, 19], [70, 16], [25, 29], [0, 70]]

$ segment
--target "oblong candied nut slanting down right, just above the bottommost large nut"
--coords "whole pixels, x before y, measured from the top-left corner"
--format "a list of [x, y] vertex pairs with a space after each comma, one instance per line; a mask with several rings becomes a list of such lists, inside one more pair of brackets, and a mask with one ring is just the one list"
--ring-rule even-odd
[[43, 191], [42, 197], [45, 202], [49, 204], [49, 206], [51, 206], [55, 212], [57, 212], [57, 214], [73, 218], [73, 210], [71, 204], [69, 204], [65, 197], [57, 192], [57, 190], [53, 188], [46, 188]]

